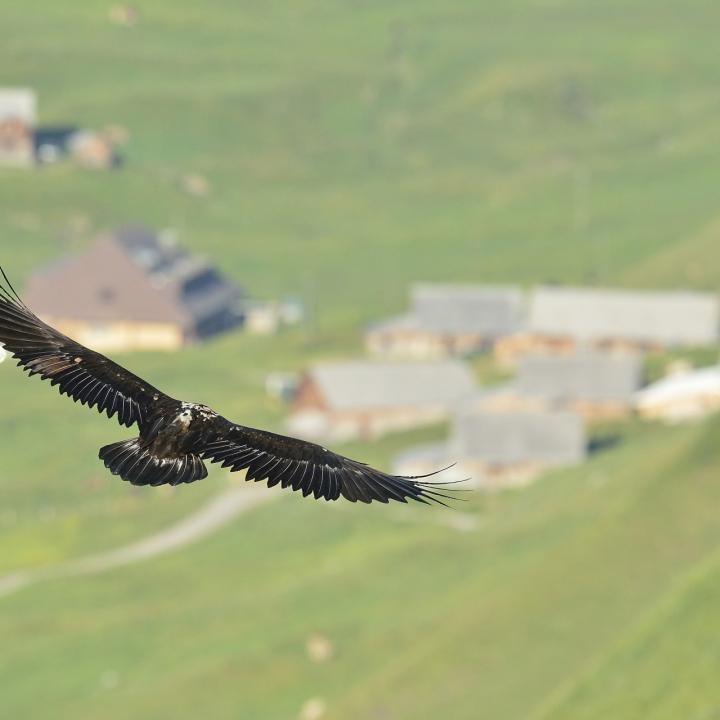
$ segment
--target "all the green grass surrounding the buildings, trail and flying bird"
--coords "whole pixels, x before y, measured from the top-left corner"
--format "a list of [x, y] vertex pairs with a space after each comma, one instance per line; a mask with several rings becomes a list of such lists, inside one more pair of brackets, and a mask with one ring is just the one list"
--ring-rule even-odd
[[[111, 6], [0, 5], [0, 86], [35, 88], [41, 125], [128, 135], [113, 172], [0, 169], [0, 263], [21, 287], [142, 222], [309, 311], [120, 358], [171, 395], [281, 428], [266, 373], [359, 353], [418, 280], [720, 286], [715, 3], [144, 0], [134, 27]], [[443, 432], [345, 449], [387, 465]], [[0, 577], [229, 483], [128, 487], [96, 453], [131, 433], [0, 365]], [[622, 434], [455, 514], [282, 495], [176, 554], [0, 598], [0, 715], [282, 720], [318, 698], [327, 720], [715, 717], [720, 423]]]

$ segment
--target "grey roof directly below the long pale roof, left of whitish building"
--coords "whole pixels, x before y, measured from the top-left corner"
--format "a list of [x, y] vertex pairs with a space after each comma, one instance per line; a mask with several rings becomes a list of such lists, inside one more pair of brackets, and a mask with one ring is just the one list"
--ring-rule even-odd
[[642, 360], [636, 354], [539, 355], [520, 361], [515, 388], [521, 395], [557, 401], [630, 402], [642, 377]]

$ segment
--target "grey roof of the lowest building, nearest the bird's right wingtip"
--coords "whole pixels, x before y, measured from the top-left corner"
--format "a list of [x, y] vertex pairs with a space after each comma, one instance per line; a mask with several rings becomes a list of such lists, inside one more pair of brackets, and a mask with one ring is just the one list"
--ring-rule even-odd
[[456, 419], [449, 449], [453, 457], [496, 465], [571, 465], [585, 457], [586, 438], [581, 418], [570, 412], [476, 410]]

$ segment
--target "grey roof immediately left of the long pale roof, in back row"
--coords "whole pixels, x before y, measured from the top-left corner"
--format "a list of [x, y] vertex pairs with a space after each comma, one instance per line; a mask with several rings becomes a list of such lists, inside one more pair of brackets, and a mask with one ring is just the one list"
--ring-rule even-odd
[[493, 337], [518, 330], [526, 312], [519, 288], [484, 285], [418, 284], [411, 291], [411, 306], [423, 330]]

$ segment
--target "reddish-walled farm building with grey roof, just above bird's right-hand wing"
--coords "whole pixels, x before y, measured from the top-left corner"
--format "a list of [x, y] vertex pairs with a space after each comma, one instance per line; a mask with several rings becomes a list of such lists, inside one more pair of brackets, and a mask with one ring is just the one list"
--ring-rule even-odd
[[304, 437], [377, 437], [445, 420], [475, 392], [452, 360], [318, 365], [301, 379], [288, 425]]

